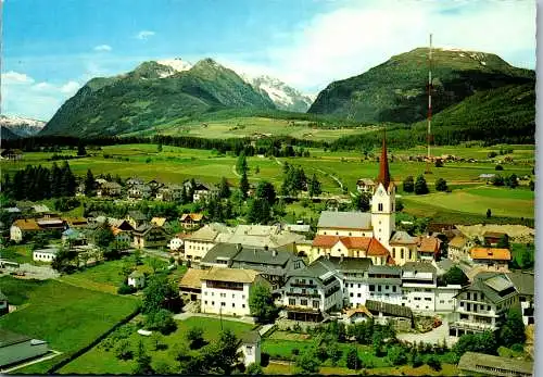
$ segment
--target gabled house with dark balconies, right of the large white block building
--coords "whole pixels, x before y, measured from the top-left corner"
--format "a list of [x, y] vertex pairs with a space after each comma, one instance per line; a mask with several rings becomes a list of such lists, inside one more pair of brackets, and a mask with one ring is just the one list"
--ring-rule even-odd
[[282, 304], [289, 319], [320, 322], [330, 311], [343, 306], [341, 281], [333, 271], [317, 260], [287, 274]]

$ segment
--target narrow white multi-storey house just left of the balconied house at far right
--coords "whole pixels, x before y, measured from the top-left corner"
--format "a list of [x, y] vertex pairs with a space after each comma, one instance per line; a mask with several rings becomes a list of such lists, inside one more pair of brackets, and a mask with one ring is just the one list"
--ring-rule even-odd
[[430, 263], [408, 262], [402, 266], [402, 305], [417, 312], [433, 312], [437, 287], [437, 268]]

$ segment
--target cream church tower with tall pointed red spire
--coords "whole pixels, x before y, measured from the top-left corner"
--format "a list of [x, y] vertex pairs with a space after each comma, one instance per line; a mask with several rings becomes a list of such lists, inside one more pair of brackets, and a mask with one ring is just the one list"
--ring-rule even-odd
[[387, 134], [384, 134], [379, 159], [379, 176], [376, 179], [376, 188], [371, 198], [371, 226], [374, 237], [387, 249], [390, 249], [390, 237], [395, 230], [395, 192], [394, 183], [390, 178]]

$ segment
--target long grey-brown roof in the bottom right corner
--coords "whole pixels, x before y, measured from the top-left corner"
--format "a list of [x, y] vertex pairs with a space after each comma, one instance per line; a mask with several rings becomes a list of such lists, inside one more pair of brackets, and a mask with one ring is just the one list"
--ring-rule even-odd
[[[488, 366], [491, 368], [500, 368], [513, 372], [512, 375], [517, 374], [533, 374], [533, 362], [520, 361], [510, 357], [500, 357], [488, 355], [478, 352], [466, 352], [462, 355], [458, 362], [458, 368], [470, 372], [490, 373], [490, 370], [484, 370], [480, 366]], [[498, 376], [505, 374], [500, 373]]]

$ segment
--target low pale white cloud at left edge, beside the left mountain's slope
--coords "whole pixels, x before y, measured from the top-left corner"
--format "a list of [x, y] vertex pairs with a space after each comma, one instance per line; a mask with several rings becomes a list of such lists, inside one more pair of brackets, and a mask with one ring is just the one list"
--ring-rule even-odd
[[80, 85], [74, 80], [52, 84], [23, 73], [2, 74], [2, 112], [48, 121]]

